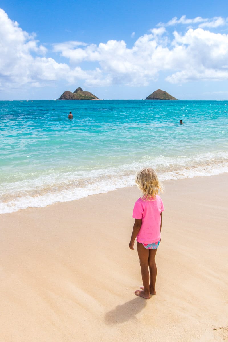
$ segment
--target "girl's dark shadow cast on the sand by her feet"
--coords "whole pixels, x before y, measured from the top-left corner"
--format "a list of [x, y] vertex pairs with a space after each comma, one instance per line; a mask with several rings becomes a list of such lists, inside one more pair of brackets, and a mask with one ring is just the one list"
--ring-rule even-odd
[[129, 302], [117, 307], [105, 314], [106, 324], [119, 324], [134, 319], [144, 307], [146, 306], [146, 299], [136, 297]]

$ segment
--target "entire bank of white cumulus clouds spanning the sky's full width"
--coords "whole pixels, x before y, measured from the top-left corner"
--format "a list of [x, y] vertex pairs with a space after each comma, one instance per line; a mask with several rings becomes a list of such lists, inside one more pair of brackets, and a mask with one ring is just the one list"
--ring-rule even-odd
[[[65, 63], [58, 63], [47, 56], [49, 51], [34, 34], [23, 31], [0, 10], [0, 87], [40, 87], [58, 80], [72, 84], [82, 80], [86, 86], [146, 86], [158, 79], [160, 71], [165, 71], [166, 80], [171, 83], [227, 80], [228, 35], [212, 32], [226, 23], [227, 19], [222, 17], [175, 17], [149, 30], [132, 47], [123, 40], [52, 44], [52, 51], [65, 58]], [[183, 33], [167, 31], [178, 24], [197, 27], [187, 28]], [[82, 62], [88, 63], [89, 68], [83, 70]]]

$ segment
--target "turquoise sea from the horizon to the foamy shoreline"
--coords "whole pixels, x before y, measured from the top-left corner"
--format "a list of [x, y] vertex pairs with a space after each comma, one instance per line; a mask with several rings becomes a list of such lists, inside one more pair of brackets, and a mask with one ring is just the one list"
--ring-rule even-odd
[[228, 101], [1, 101], [0, 130], [0, 213], [228, 172]]

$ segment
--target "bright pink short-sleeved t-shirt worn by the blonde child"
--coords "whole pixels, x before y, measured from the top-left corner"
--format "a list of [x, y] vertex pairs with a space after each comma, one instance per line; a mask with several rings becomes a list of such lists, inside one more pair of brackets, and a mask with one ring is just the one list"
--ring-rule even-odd
[[137, 199], [133, 209], [132, 217], [142, 219], [136, 240], [140, 244], [152, 244], [161, 239], [161, 212], [164, 211], [163, 202], [159, 195], [153, 201], [142, 198]]

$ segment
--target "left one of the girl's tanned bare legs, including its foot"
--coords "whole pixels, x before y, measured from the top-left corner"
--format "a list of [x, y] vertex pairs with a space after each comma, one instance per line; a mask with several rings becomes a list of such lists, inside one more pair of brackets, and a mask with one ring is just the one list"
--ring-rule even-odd
[[149, 266], [149, 250], [143, 247], [143, 244], [140, 244], [137, 242], [137, 251], [138, 251], [138, 257], [139, 257], [139, 263], [141, 267], [141, 274], [142, 274], [142, 280], [143, 280], [143, 291], [136, 290], [135, 294], [136, 296], [143, 297], [146, 299], [150, 298], [150, 275], [148, 271]]

